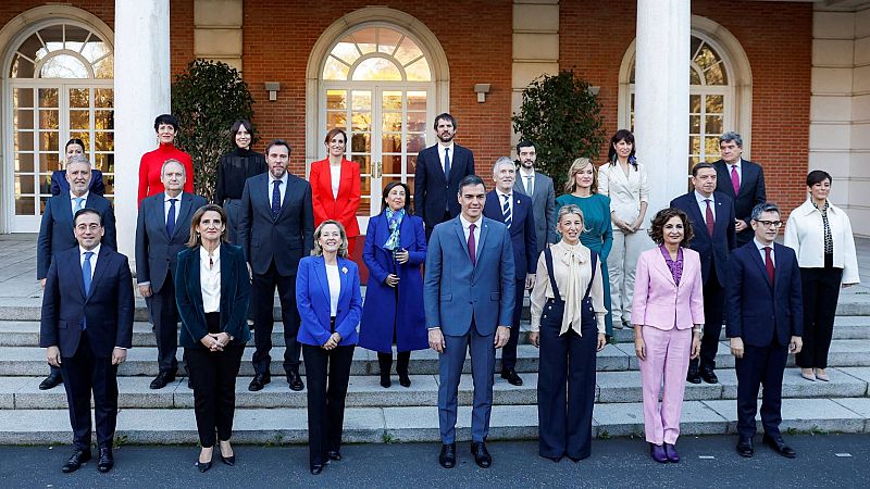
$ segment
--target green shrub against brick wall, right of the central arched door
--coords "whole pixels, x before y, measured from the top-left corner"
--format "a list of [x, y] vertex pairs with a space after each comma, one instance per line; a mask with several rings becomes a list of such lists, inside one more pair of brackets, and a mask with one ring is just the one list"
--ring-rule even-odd
[[589, 84], [573, 71], [536, 78], [523, 90], [513, 130], [535, 145], [536, 167], [550, 175], [559, 193], [571, 163], [595, 159], [605, 143], [601, 105]]

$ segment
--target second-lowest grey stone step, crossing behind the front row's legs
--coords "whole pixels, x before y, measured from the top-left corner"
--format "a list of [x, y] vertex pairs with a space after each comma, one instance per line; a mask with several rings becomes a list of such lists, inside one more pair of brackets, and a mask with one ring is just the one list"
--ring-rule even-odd
[[[729, 400], [737, 398], [737, 377], [734, 369], [720, 369], [719, 384], [686, 384], [685, 399], [689, 401]], [[830, 368], [830, 383], [808, 381], [799, 371], [790, 368], [783, 380], [783, 398], [861, 398], [870, 396], [870, 367]], [[496, 375], [493, 388], [494, 405], [522, 405], [537, 402], [536, 373], [524, 374], [523, 386], [515, 387]], [[62, 387], [42, 391], [38, 389], [41, 377], [0, 377], [0, 409], [54, 410], [66, 408]], [[259, 392], [248, 391], [250, 377], [236, 381], [236, 406], [239, 409], [306, 408], [307, 392], [289, 390], [283, 377], [273, 378]], [[349, 408], [435, 406], [438, 400], [436, 375], [413, 375], [411, 387], [398, 385], [393, 376], [393, 387], [384, 389], [380, 376], [351, 376], [348, 386]], [[151, 390], [150, 377], [119, 378], [119, 406], [121, 409], [188, 409], [194, 406], [192, 390], [187, 380], [177, 379], [163, 389]], [[459, 385], [460, 405], [471, 405], [473, 383], [465, 374]], [[638, 372], [599, 372], [596, 378], [595, 401], [600, 404], [642, 402], [641, 374]]]

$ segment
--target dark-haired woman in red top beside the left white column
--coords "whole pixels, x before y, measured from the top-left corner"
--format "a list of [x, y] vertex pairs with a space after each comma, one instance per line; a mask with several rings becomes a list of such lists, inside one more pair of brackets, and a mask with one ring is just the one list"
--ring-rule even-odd
[[139, 163], [139, 204], [142, 199], [163, 191], [160, 173], [166, 160], [178, 160], [184, 165], [187, 180], [184, 191], [194, 193], [194, 161], [190, 155], [175, 148], [175, 135], [178, 133], [178, 120], [172, 114], [161, 114], [154, 120], [157, 140], [160, 143], [153, 151], [142, 154]]

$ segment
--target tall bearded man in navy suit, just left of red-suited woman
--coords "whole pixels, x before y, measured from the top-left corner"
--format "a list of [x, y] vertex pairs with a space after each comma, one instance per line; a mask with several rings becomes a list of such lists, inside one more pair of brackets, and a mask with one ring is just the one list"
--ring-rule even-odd
[[251, 271], [254, 376], [248, 390], [258, 391], [272, 379], [272, 309], [275, 288], [284, 322], [284, 372], [290, 389], [304, 389], [299, 377], [299, 311], [296, 309], [296, 272], [299, 260], [314, 248], [314, 210], [311, 186], [290, 175], [290, 146], [275, 139], [265, 149], [269, 172], [245, 181], [238, 237]]

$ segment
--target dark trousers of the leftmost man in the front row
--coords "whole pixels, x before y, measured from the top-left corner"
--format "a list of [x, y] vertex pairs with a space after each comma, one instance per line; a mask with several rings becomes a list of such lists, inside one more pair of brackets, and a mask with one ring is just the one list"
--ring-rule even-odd
[[75, 448], [90, 451], [91, 392], [97, 443], [99, 448], [112, 448], [117, 423], [117, 365], [112, 365], [111, 358], [96, 356], [87, 334], [83, 331], [75, 354], [61, 359], [61, 373]]

